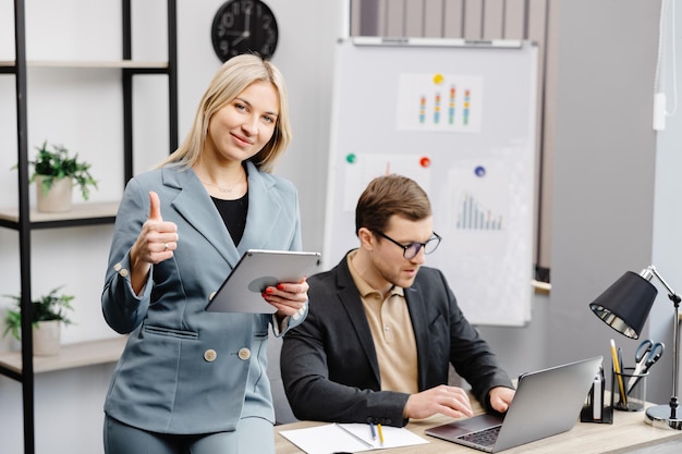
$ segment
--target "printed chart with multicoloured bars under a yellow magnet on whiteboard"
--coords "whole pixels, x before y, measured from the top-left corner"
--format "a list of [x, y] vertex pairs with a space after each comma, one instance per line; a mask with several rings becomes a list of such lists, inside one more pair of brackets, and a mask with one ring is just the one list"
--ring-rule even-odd
[[479, 76], [401, 74], [398, 130], [478, 133], [483, 88]]

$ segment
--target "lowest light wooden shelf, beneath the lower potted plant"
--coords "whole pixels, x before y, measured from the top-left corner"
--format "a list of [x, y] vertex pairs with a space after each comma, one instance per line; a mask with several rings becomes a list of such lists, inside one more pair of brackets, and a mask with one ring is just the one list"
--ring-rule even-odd
[[[33, 357], [34, 373], [51, 372], [54, 370], [73, 369], [76, 367], [94, 366], [114, 363], [121, 356], [127, 336], [105, 339], [99, 341], [82, 342], [62, 345], [58, 355]], [[0, 354], [0, 369], [22, 373], [21, 352]]]

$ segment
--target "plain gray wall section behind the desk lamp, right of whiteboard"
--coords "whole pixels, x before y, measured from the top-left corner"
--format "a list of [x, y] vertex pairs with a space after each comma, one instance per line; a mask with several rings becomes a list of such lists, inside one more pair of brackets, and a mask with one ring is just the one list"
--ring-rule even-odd
[[[556, 162], [546, 320], [551, 335], [545, 344], [553, 360], [610, 358], [612, 338], [625, 363], [634, 363], [638, 341], [606, 327], [587, 304], [624, 271], [638, 272], [651, 262], [659, 7], [643, 0], [550, 2]], [[661, 393], [663, 371], [653, 369], [651, 401], [669, 398]]]

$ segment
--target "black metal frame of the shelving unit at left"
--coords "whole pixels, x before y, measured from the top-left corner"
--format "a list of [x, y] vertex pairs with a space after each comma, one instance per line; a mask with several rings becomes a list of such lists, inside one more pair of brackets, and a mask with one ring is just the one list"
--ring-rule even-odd
[[[159, 74], [168, 78], [169, 99], [169, 144], [172, 152], [178, 147], [178, 33], [176, 0], [167, 1], [168, 21], [168, 61], [163, 64], [145, 64], [132, 60], [132, 8], [131, 0], [122, 0], [122, 60], [106, 68], [120, 68], [123, 88], [123, 173], [125, 184], [133, 176], [133, 78], [137, 74]], [[22, 384], [24, 453], [35, 453], [35, 409], [34, 409], [34, 358], [32, 342], [32, 275], [31, 275], [31, 232], [36, 229], [56, 229], [76, 225], [111, 223], [115, 217], [112, 209], [117, 204], [94, 209], [92, 213], [80, 212], [76, 216], [32, 216], [28, 201], [28, 112], [27, 112], [27, 60], [26, 60], [26, 14], [25, 1], [14, 0], [14, 47], [13, 64], [0, 65], [1, 75], [14, 75], [16, 90], [16, 137], [19, 170], [19, 209], [5, 216], [0, 213], [0, 226], [19, 232], [21, 314], [22, 314], [22, 367], [16, 369], [0, 361], [0, 373], [17, 380]], [[74, 64], [78, 68], [78, 64]], [[90, 68], [90, 66], [87, 66]], [[84, 68], [84, 71], [87, 71]], [[97, 68], [96, 65], [94, 68]], [[87, 206], [89, 204], [85, 204]], [[93, 204], [95, 207], [96, 204]], [[35, 218], [35, 219], [34, 219]], [[26, 334], [26, 335], [24, 335]], [[93, 363], [95, 364], [95, 361]]]

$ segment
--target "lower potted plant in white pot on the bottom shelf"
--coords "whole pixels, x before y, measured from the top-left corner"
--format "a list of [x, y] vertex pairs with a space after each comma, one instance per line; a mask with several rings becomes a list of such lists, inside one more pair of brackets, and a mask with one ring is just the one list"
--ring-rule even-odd
[[[35, 355], [56, 355], [59, 353], [61, 324], [71, 324], [68, 311], [73, 310], [71, 302], [73, 296], [60, 295], [61, 287], [53, 289], [47, 295], [32, 302], [33, 303], [33, 353]], [[12, 334], [14, 339], [21, 341], [22, 297], [17, 295], [4, 295], [14, 299], [15, 309], [8, 309], [4, 317], [3, 335]]]

